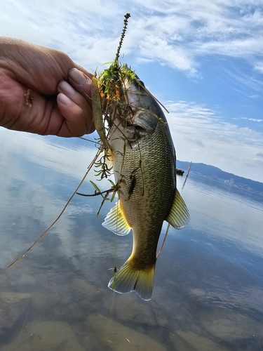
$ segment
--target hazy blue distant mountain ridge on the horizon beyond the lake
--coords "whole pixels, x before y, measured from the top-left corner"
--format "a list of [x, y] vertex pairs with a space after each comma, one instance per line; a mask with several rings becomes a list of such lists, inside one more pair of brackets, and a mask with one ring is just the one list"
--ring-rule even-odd
[[[187, 171], [189, 167], [189, 162], [186, 161], [176, 161], [177, 168], [181, 168], [184, 171]], [[262, 192], [263, 193], [263, 183], [256, 182], [255, 180], [251, 180], [248, 178], [243, 178], [234, 175], [233, 173], [228, 173], [222, 171], [222, 169], [217, 168], [215, 166], [210, 166], [208, 164], [191, 164], [191, 173], [198, 173], [201, 176], [205, 176], [207, 178], [211, 178], [214, 180], [225, 181], [227, 183], [231, 182], [233, 185], [237, 187], [241, 187], [246, 190], [254, 191], [254, 192]], [[233, 180], [231, 180], [233, 179]]]

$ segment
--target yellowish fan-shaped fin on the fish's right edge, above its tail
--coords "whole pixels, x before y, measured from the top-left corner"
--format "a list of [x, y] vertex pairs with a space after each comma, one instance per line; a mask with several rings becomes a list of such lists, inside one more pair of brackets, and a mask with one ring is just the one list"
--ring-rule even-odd
[[178, 190], [175, 191], [173, 205], [166, 220], [170, 225], [173, 225], [175, 229], [182, 229], [189, 223], [190, 216], [188, 208]]

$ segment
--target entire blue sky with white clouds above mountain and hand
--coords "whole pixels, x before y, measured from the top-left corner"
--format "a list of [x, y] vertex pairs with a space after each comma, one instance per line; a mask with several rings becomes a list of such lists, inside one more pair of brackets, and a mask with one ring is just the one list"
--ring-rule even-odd
[[262, 0], [8, 0], [0, 35], [101, 72], [126, 13], [121, 62], [169, 110], [177, 159], [263, 182]]

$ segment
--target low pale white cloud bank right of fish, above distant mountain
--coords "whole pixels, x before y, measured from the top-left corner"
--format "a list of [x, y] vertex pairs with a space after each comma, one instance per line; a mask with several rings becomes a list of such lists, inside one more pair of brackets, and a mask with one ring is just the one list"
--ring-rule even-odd
[[[263, 182], [263, 133], [224, 122], [217, 111], [184, 101], [166, 104], [177, 158], [203, 162]], [[196, 148], [196, 145], [200, 148]]]

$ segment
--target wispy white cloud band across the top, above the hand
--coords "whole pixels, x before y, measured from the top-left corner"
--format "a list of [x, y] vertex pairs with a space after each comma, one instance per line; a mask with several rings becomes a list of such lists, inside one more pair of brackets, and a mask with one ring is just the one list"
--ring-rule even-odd
[[[52, 9], [52, 11], [50, 10]], [[123, 52], [191, 75], [199, 56], [227, 55], [262, 71], [262, 10], [258, 1], [6, 1], [1, 34], [60, 48], [94, 70], [112, 60], [130, 11]]]

